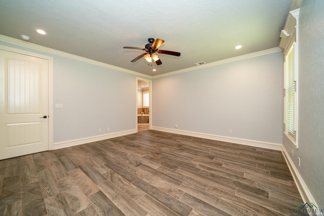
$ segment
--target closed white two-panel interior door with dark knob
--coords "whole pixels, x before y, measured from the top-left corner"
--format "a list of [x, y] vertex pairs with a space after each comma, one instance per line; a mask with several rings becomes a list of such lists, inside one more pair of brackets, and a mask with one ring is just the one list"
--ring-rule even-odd
[[0, 159], [49, 149], [49, 62], [0, 50]]

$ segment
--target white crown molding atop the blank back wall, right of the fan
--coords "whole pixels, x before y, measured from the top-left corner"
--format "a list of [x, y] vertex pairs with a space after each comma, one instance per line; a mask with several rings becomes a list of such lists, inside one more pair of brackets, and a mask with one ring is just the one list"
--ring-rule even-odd
[[153, 76], [153, 79], [164, 77], [164, 76], [175, 75], [175, 74], [179, 74], [179, 73], [184, 73], [184, 72], [189, 72], [189, 71], [193, 71], [193, 70], [198, 70], [198, 69], [201, 69], [201, 68], [207, 68], [207, 67], [213, 67], [213, 66], [216, 66], [216, 65], [227, 64], [227, 63], [230, 63], [230, 62], [236, 62], [236, 61], [240, 61], [240, 60], [250, 59], [250, 58], [254, 58], [254, 57], [258, 57], [258, 56], [277, 53], [277, 52], [282, 52], [282, 50], [279, 47], [271, 48], [271, 49], [268, 49], [268, 50], [263, 50], [263, 51], [259, 51], [259, 52], [255, 52], [255, 53], [246, 54], [246, 55], [241, 55], [241, 56], [237, 56], [237, 57], [233, 57], [233, 58], [229, 58], [229, 59], [220, 60], [220, 61], [217, 61], [217, 62], [211, 62], [211, 63], [204, 64], [204, 65], [193, 66], [193, 67], [189, 67], [189, 68], [185, 68], [185, 69], [181, 69], [181, 70], [176, 70], [176, 71], [169, 72], [169, 73], [155, 75], [155, 76]]

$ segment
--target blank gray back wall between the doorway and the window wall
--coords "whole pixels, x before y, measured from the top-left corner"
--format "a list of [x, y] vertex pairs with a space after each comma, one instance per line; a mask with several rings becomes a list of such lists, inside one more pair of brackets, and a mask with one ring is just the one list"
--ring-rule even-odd
[[282, 71], [277, 52], [154, 78], [152, 126], [281, 144]]

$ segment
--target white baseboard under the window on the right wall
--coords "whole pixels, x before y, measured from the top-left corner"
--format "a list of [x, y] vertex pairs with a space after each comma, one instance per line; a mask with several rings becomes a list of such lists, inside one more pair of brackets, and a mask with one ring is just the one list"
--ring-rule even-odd
[[294, 178], [294, 181], [296, 183], [296, 186], [298, 188], [298, 191], [300, 193], [300, 196], [303, 199], [304, 203], [316, 203], [313, 196], [311, 195], [310, 191], [308, 190], [303, 178], [300, 176], [299, 171], [297, 167], [295, 166], [293, 160], [289, 156], [286, 148], [284, 145], [282, 145], [281, 149], [282, 155], [284, 155], [284, 158], [286, 160], [286, 163], [289, 167], [289, 170]]

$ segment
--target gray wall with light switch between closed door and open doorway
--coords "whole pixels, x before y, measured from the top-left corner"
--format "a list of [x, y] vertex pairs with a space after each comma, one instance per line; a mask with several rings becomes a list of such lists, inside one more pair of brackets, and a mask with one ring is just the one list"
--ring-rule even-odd
[[0, 45], [53, 57], [54, 106], [63, 104], [53, 108], [54, 143], [136, 128], [136, 75], [4, 41]]

